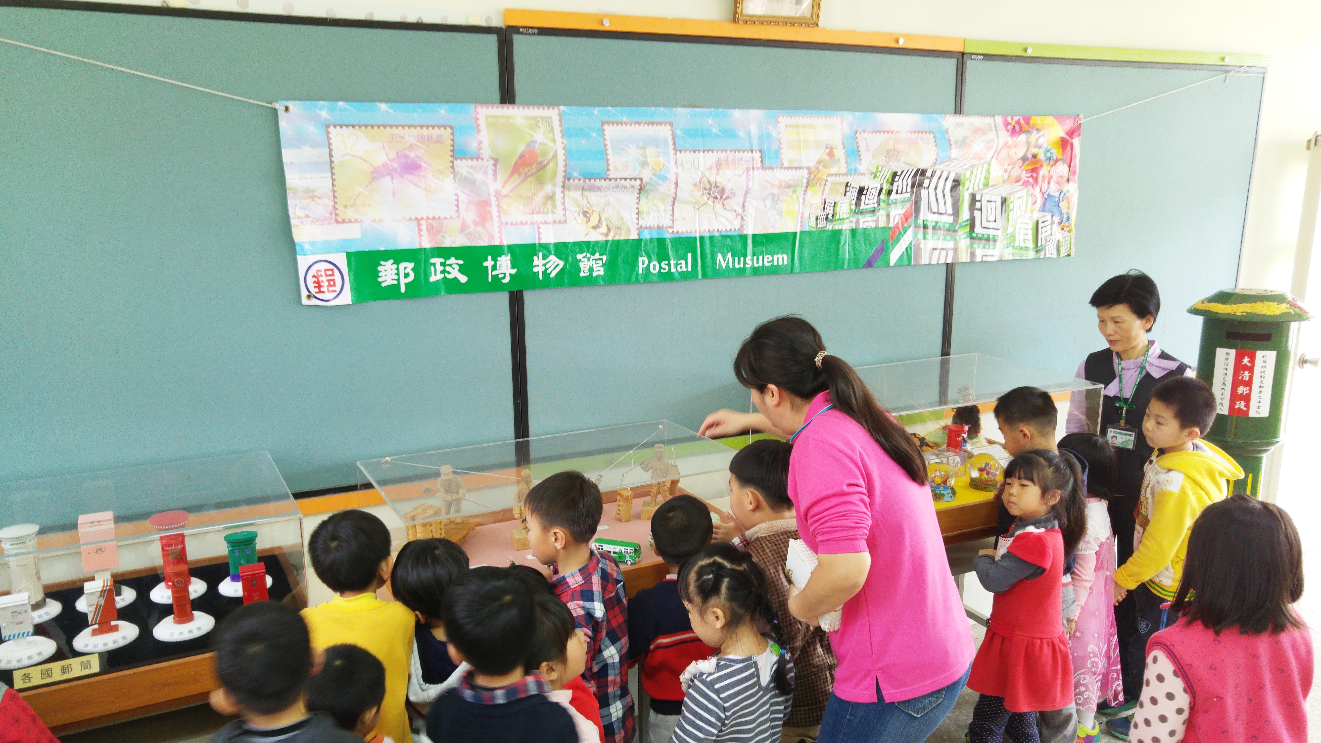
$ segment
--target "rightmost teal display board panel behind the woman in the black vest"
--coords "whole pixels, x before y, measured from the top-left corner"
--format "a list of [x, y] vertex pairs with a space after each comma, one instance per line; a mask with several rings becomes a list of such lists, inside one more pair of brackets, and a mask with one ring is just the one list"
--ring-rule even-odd
[[[1199, 319], [1184, 312], [1232, 287], [1264, 78], [1246, 70], [1082, 124], [1082, 196], [1069, 260], [970, 263], [956, 270], [954, 353], [982, 352], [1073, 374], [1106, 348], [1087, 300], [1140, 268], [1161, 291], [1152, 332], [1197, 362]], [[1215, 69], [970, 59], [966, 114], [1110, 111], [1217, 74]]]

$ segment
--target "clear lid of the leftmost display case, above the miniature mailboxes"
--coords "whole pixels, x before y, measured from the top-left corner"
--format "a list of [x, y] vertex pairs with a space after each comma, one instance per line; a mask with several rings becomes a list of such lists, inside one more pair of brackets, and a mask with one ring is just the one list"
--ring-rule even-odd
[[[79, 516], [102, 512], [114, 513], [116, 541], [300, 516], [264, 451], [0, 483], [0, 533], [36, 525], [36, 551], [111, 541], [108, 533], [78, 538]], [[148, 520], [159, 514], [168, 517], [153, 526]]]

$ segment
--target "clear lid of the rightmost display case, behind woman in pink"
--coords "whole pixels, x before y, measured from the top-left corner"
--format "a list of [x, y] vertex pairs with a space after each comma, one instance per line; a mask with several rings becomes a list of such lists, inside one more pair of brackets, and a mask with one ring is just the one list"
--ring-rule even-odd
[[886, 410], [896, 415], [995, 402], [1015, 387], [1074, 393], [1102, 386], [1046, 369], [984, 353], [963, 353], [859, 366], [857, 374]]

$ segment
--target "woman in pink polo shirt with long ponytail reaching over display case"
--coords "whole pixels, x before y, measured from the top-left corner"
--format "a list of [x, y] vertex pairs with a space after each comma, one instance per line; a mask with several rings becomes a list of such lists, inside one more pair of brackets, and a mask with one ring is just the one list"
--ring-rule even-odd
[[713, 412], [701, 434], [790, 438], [789, 497], [820, 565], [789, 609], [816, 624], [843, 608], [818, 740], [926, 740], [954, 707], [974, 648], [917, 444], [801, 317], [758, 325], [734, 375], [761, 412]]

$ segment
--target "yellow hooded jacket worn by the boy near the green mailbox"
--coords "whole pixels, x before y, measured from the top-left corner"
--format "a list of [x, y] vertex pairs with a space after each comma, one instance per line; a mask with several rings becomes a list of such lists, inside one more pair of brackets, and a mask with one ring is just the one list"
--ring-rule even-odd
[[1193, 442], [1192, 451], [1155, 451], [1143, 475], [1133, 555], [1115, 570], [1115, 583], [1129, 591], [1145, 583], [1157, 596], [1173, 600], [1193, 522], [1202, 509], [1225, 500], [1230, 481], [1240, 477], [1243, 468], [1202, 439]]

